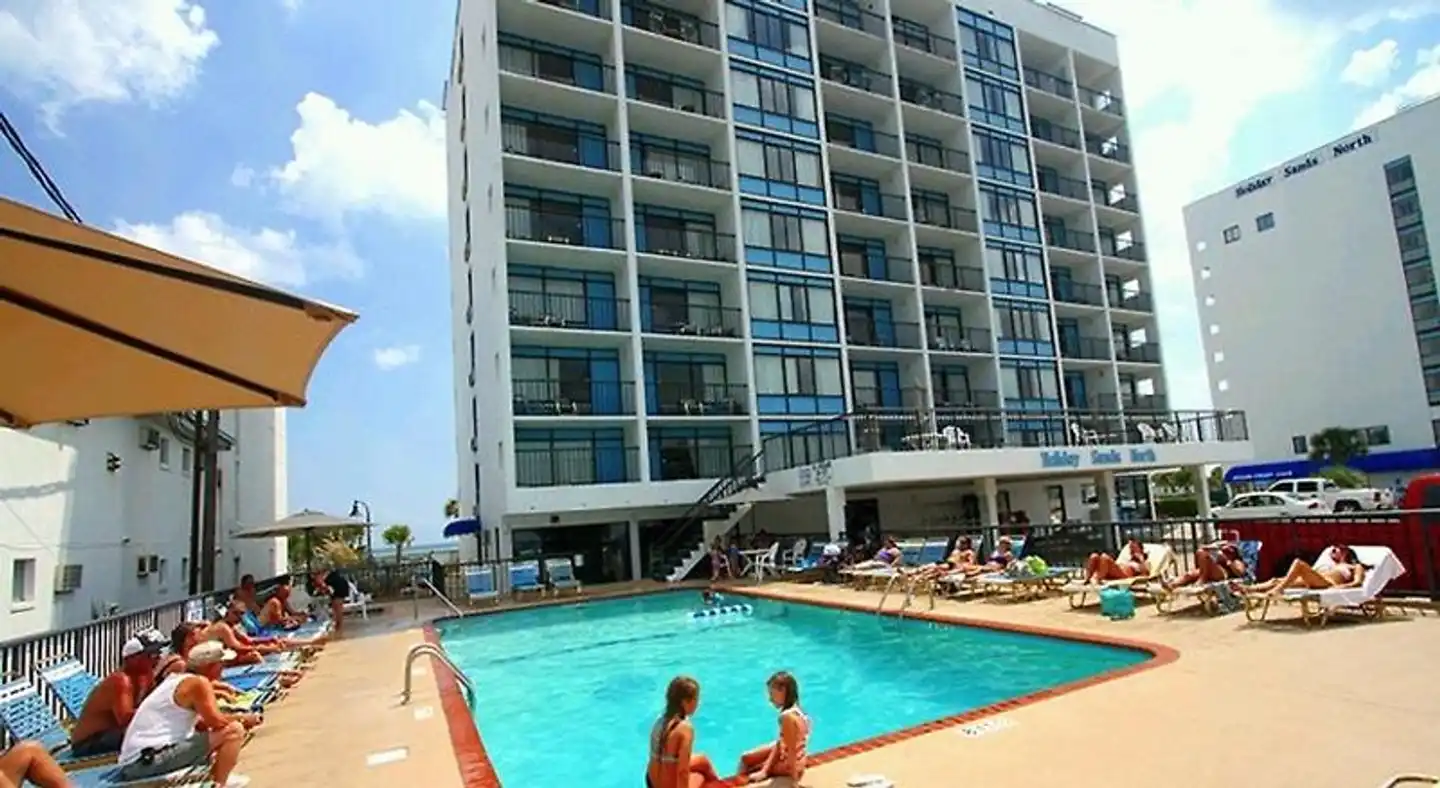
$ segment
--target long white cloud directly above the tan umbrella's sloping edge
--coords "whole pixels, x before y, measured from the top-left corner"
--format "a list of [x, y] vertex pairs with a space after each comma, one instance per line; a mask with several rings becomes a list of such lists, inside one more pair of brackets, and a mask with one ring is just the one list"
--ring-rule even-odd
[[361, 272], [360, 261], [344, 246], [304, 243], [294, 230], [235, 228], [215, 213], [199, 210], [161, 225], [117, 222], [114, 232], [275, 287], [295, 288], [314, 279], [350, 278]]

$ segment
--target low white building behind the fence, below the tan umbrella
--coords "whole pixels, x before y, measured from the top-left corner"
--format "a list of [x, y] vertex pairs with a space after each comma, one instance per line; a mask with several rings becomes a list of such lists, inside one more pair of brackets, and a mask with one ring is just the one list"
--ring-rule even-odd
[[[216, 585], [284, 570], [285, 540], [230, 539], [287, 514], [285, 412], [220, 415]], [[0, 429], [0, 640], [189, 596], [189, 422]]]

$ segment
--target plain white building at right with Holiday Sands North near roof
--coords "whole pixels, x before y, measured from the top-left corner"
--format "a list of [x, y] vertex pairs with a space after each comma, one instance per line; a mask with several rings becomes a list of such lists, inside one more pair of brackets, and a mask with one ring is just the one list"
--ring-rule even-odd
[[1185, 207], [1211, 395], [1260, 460], [1227, 481], [1312, 473], [1332, 426], [1364, 436], [1374, 484], [1440, 468], [1437, 137], [1428, 101]]

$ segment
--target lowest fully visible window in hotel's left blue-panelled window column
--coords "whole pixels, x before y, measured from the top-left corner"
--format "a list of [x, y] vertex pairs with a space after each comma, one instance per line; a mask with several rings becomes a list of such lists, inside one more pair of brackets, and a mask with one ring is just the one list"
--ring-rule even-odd
[[760, 415], [844, 413], [840, 350], [756, 344], [755, 398]]

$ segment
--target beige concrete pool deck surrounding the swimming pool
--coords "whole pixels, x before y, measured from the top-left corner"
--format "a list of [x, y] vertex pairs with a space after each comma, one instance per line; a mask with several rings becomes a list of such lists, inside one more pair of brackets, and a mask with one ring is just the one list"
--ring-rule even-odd
[[[649, 588], [658, 586], [631, 583], [586, 595]], [[874, 592], [821, 585], [744, 589], [865, 611], [874, 611], [880, 601]], [[887, 609], [896, 606], [891, 599]], [[922, 601], [919, 606], [923, 611], [926, 605]], [[412, 702], [399, 703], [405, 654], [425, 641], [423, 624], [446, 612], [426, 601], [416, 617], [412, 602], [392, 602], [369, 622], [348, 622], [347, 638], [328, 645], [311, 674], [266, 712], [239, 771], [251, 775], [256, 788], [323, 782], [494, 788], [494, 778], [478, 765], [481, 753], [474, 742], [459, 755], [452, 746], [452, 733], [464, 742], [465, 732], [452, 730], [446, 720], [431, 660], [416, 661], [425, 674], [416, 671]], [[1338, 621], [1315, 631], [1297, 624], [1247, 627], [1241, 614], [1159, 617], [1153, 606], [1142, 606], [1133, 619], [1112, 622], [1096, 608], [1071, 611], [1063, 598], [942, 601], [933, 615], [1143, 641], [1162, 653], [1174, 650], [1178, 658], [998, 710], [985, 719], [999, 725], [982, 726], [989, 729], [978, 735], [955, 725], [854, 755], [837, 753], [809, 769], [805, 788], [844, 788], [857, 774], [883, 774], [897, 788], [1151, 788], [1169, 782], [1187, 788], [1365, 788], [1400, 772], [1440, 774], [1440, 751], [1434, 748], [1434, 732], [1440, 730], [1434, 657], [1440, 653], [1440, 615], [1433, 611]], [[958, 658], [956, 681], [963, 676], [963, 658]], [[455, 712], [454, 697], [451, 702]], [[775, 781], [775, 788], [785, 785], [788, 781]]]

